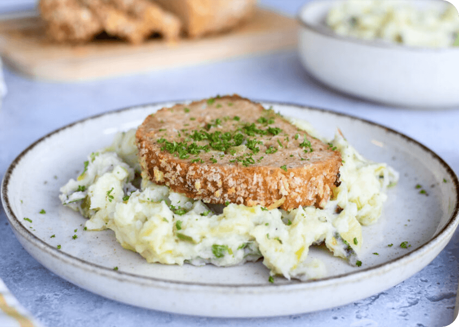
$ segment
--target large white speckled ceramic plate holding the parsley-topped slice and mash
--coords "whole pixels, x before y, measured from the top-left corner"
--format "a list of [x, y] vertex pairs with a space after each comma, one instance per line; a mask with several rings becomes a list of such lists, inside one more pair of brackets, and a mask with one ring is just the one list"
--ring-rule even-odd
[[[339, 127], [364, 156], [400, 172], [380, 221], [363, 228], [362, 266], [312, 248], [311, 255], [327, 266], [325, 278], [276, 278], [271, 284], [261, 262], [230, 268], [149, 264], [123, 249], [112, 231], [84, 231], [85, 218], [61, 205], [59, 188], [81, 171], [87, 154], [109, 145], [115, 132], [134, 128], [147, 114], [172, 104], [76, 122], [46, 135], [16, 158], [3, 179], [1, 198], [16, 237], [36, 260], [91, 292], [145, 308], [206, 316], [285, 315], [343, 305], [396, 285], [432, 261], [458, 225], [458, 179], [428, 148], [352, 116], [263, 102], [282, 114], [307, 119], [326, 137]], [[419, 194], [416, 184], [428, 196]], [[411, 245], [406, 249], [399, 246], [405, 241]]]

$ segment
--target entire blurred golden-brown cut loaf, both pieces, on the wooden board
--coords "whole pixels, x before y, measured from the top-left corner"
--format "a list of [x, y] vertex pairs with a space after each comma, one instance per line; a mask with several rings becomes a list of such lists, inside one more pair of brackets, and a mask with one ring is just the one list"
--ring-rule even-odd
[[256, 0], [40, 0], [48, 36], [84, 42], [106, 32], [130, 43], [153, 33], [177, 40], [229, 30], [252, 14]]

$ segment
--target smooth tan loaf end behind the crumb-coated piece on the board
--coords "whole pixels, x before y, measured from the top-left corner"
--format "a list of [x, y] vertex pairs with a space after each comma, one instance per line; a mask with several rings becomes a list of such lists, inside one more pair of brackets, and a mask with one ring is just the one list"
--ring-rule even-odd
[[256, 0], [155, 0], [178, 16], [189, 37], [227, 31], [250, 17]]

